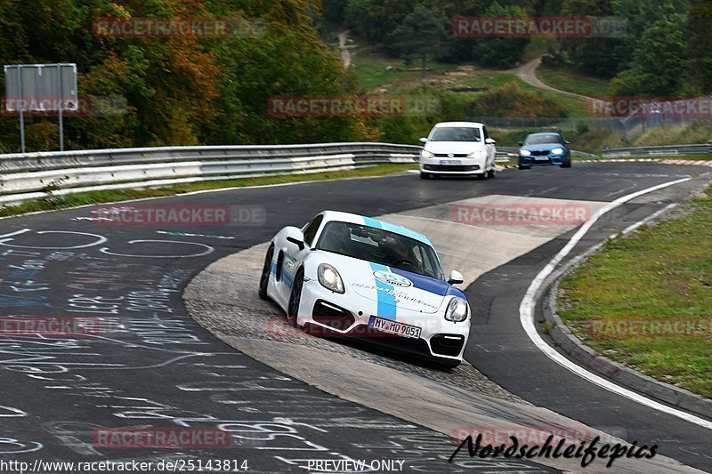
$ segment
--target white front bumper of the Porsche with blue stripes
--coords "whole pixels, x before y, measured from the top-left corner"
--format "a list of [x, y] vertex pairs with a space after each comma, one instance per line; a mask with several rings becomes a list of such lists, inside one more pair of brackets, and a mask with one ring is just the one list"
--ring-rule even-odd
[[297, 323], [322, 336], [352, 337], [430, 360], [461, 361], [470, 334], [470, 317], [460, 323], [448, 321], [442, 311], [427, 314], [398, 309], [399, 323], [420, 327], [420, 337], [409, 338], [368, 327], [374, 301], [353, 292], [333, 293], [317, 281], [304, 283]]

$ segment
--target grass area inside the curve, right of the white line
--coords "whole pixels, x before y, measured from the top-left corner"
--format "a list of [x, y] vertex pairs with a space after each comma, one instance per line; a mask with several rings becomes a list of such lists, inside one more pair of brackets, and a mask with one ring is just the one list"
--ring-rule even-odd
[[[710, 236], [712, 188], [681, 205], [676, 216], [605, 245], [565, 277], [559, 301], [563, 321], [598, 353], [712, 398]], [[657, 335], [623, 336], [618, 324], [630, 327], [633, 319], [645, 321], [635, 327], [648, 327]], [[666, 327], [666, 321], [675, 319], [707, 322], [707, 329], [701, 336], [690, 336], [687, 329], [670, 337], [652, 323]], [[603, 326], [605, 330], [588, 326], [596, 320], [614, 325]]]

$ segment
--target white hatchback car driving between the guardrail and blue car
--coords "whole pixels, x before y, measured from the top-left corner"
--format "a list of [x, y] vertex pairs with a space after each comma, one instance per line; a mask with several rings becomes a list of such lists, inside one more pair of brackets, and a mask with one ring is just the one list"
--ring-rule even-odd
[[495, 141], [477, 122], [442, 122], [433, 126], [420, 152], [420, 177], [465, 175], [494, 178]]

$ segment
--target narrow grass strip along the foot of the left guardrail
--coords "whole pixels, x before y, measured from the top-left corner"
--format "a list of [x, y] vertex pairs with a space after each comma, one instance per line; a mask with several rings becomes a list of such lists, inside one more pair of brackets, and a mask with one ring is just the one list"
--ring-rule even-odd
[[224, 181], [201, 181], [188, 184], [179, 184], [157, 189], [109, 189], [103, 191], [87, 191], [69, 194], [66, 196], [47, 197], [37, 201], [29, 201], [21, 205], [0, 207], [0, 217], [35, 213], [38, 211], [54, 211], [77, 207], [79, 205], [93, 205], [143, 199], [147, 197], [166, 197], [191, 191], [202, 191], [223, 188], [243, 188], [247, 186], [264, 186], [268, 184], [283, 184], [290, 182], [336, 180], [344, 178], [358, 178], [366, 176], [384, 176], [386, 174], [401, 173], [408, 169], [415, 169], [417, 165], [383, 164], [373, 165], [355, 170], [329, 171], [310, 174], [284, 174], [279, 176], [261, 176], [257, 178], [238, 178]]

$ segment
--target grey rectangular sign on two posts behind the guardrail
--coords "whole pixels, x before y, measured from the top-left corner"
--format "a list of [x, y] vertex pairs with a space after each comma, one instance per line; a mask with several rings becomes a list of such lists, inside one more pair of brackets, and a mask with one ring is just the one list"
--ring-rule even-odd
[[17, 64], [5, 66], [5, 109], [20, 114], [20, 148], [25, 153], [25, 111], [57, 112], [60, 151], [64, 151], [64, 111], [76, 111], [76, 64]]

